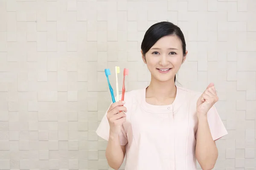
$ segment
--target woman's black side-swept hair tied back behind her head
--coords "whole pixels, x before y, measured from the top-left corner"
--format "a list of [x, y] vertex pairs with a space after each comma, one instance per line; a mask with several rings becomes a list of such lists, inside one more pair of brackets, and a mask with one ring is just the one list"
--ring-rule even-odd
[[[148, 50], [162, 37], [168, 35], [176, 35], [180, 38], [182, 43], [183, 56], [186, 55], [186, 42], [183, 32], [178, 26], [168, 21], [163, 21], [160, 23], [155, 23], [145, 32], [143, 41], [141, 43], [141, 50], [143, 55], [148, 52]], [[174, 82], [176, 81], [176, 75], [174, 77]]]

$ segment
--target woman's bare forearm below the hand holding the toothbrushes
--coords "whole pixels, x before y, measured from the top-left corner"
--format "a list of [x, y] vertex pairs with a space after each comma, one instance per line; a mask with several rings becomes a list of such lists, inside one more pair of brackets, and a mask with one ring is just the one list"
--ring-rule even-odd
[[114, 170], [118, 170], [125, 158], [125, 146], [121, 146], [119, 136], [109, 136], [106, 149], [108, 164]]

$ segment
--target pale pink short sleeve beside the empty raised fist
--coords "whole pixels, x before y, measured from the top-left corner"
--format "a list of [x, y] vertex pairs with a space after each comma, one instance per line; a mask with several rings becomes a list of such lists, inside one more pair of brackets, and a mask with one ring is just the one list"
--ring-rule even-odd
[[208, 121], [209, 128], [210, 128], [210, 131], [212, 134], [212, 139], [214, 141], [227, 135], [227, 130], [226, 130], [215, 106], [212, 106], [212, 108], [208, 111], [207, 121]]

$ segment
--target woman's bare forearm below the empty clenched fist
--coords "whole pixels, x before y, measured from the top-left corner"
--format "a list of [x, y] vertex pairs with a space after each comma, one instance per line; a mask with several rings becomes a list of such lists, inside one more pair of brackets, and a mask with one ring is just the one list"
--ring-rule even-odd
[[203, 170], [212, 170], [218, 158], [218, 149], [212, 139], [207, 114], [198, 116], [195, 155]]

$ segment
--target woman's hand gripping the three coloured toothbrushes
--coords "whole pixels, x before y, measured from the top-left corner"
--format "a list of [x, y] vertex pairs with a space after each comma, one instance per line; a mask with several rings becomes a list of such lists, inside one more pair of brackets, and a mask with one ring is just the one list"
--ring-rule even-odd
[[[110, 126], [110, 136], [119, 136], [123, 122], [126, 120], [127, 109], [123, 106], [125, 102], [112, 103], [108, 109], [107, 118]], [[121, 112], [120, 112], [121, 111]]]

